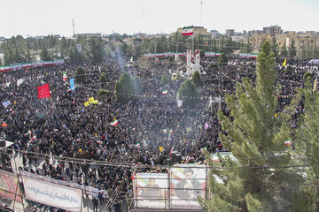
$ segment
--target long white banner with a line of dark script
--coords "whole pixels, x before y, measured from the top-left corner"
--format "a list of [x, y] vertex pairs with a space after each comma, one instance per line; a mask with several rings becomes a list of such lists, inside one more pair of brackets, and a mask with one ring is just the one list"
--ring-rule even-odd
[[82, 190], [22, 176], [26, 199], [67, 211], [81, 211]]

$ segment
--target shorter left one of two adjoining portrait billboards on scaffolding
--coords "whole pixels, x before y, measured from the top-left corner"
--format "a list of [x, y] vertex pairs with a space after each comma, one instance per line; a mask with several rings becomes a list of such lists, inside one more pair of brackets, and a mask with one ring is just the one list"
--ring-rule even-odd
[[136, 206], [139, 208], [167, 207], [167, 174], [137, 173], [134, 184]]

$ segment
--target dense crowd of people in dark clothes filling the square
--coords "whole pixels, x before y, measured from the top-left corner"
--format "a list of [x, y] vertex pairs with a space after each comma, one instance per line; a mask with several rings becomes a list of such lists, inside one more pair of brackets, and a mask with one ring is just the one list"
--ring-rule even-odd
[[[184, 79], [160, 84], [163, 75], [170, 78], [180, 66], [164, 61], [151, 62], [147, 67], [137, 62], [120, 63], [116, 58], [107, 58], [101, 64], [80, 64], [86, 81], [75, 81], [75, 90], [71, 91], [68, 80], [74, 78], [79, 64], [3, 72], [0, 99], [10, 104], [0, 106], [1, 122], [5, 124], [0, 133], [2, 138], [13, 142], [14, 152], [3, 150], [1, 169], [12, 171], [9, 155], [17, 153], [23, 159], [20, 170], [96, 187], [107, 191], [105, 197], [110, 197], [116, 188], [119, 193], [132, 193], [135, 172], [165, 171], [152, 169], [154, 165], [205, 163], [203, 148], [210, 153], [227, 151], [218, 138], [222, 131], [217, 117], [218, 104], [210, 105], [209, 97], [221, 96], [222, 111], [228, 114], [225, 95], [234, 94], [235, 83], [243, 77], [252, 81], [256, 77], [253, 59], [234, 57], [229, 64], [211, 67], [209, 64], [214, 61], [215, 58], [207, 57], [201, 61], [204, 86], [198, 87], [200, 98], [192, 107], [177, 105], [177, 90]], [[317, 71], [317, 66], [307, 61], [290, 63], [292, 72], [286, 72], [282, 62], [276, 63], [277, 82], [281, 85], [278, 110], [290, 103], [297, 87], [304, 86], [304, 73]], [[102, 70], [106, 72], [105, 83], [99, 82]], [[66, 81], [63, 72], [67, 73]], [[122, 103], [114, 95], [115, 82], [124, 72], [139, 76], [142, 82], [143, 95], [136, 102]], [[51, 97], [38, 99], [36, 88], [46, 83], [49, 83]], [[99, 96], [100, 89], [110, 92]], [[163, 94], [163, 90], [167, 90], [167, 94]], [[98, 104], [84, 106], [90, 97], [97, 99]], [[301, 102], [292, 126], [302, 112]], [[111, 125], [114, 120], [119, 124]], [[182, 155], [180, 161], [172, 159], [172, 151]], [[57, 164], [51, 163], [51, 156], [57, 157]], [[41, 165], [39, 158], [45, 161]], [[63, 158], [74, 158], [74, 161], [65, 162]], [[75, 159], [105, 164], [75, 163]], [[35, 169], [29, 164], [34, 164]], [[140, 168], [142, 164], [148, 166]], [[102, 202], [104, 197], [93, 198], [97, 199]]]

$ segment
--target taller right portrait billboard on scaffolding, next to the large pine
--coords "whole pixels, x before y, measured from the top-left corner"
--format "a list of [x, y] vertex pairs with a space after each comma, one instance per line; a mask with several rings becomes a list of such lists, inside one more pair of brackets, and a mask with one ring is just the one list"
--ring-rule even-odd
[[202, 208], [206, 196], [206, 165], [178, 164], [170, 170], [170, 208]]

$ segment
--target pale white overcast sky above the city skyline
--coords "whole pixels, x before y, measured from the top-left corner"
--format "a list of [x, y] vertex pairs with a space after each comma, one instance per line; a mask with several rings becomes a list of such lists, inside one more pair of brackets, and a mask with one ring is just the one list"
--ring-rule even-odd
[[[201, 6], [202, 1], [202, 6]], [[0, 0], [0, 36], [170, 34], [178, 27], [319, 31], [319, 0]], [[202, 10], [201, 10], [202, 8]]]

